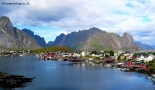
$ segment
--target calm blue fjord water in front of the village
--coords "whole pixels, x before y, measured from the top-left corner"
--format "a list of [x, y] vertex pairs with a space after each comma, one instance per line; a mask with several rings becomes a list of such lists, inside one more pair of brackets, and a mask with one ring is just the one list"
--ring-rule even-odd
[[0, 57], [0, 71], [35, 77], [16, 90], [154, 90], [146, 75], [116, 68], [40, 61], [35, 56]]

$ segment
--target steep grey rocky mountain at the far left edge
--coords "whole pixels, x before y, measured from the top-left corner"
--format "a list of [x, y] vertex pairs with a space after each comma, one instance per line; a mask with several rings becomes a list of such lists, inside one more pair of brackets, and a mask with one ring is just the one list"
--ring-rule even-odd
[[0, 18], [0, 48], [36, 49], [41, 47], [31, 36], [13, 27], [8, 17], [2, 16]]

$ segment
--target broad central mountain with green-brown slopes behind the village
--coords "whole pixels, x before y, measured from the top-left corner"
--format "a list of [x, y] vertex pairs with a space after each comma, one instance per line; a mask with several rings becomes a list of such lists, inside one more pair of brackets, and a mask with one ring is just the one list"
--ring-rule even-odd
[[52, 46], [67, 46], [74, 50], [138, 50], [132, 36], [124, 33], [121, 37], [98, 28], [90, 28], [70, 34], [60, 34], [52, 42]]

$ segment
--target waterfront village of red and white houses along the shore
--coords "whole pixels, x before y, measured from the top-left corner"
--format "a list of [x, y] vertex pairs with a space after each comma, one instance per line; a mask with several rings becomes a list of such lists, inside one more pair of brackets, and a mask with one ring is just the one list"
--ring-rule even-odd
[[[138, 54], [137, 54], [138, 53]], [[27, 51], [9, 51], [8, 53], [1, 53], [1, 56], [24, 56], [32, 54], [30, 50]], [[34, 53], [33, 53], [34, 54]], [[100, 51], [100, 52], [41, 52], [36, 54], [37, 58], [41, 60], [94, 60], [104, 63], [117, 63], [117, 65], [125, 68], [138, 68], [149, 70], [150, 67], [146, 65], [147, 62], [155, 60], [155, 55], [152, 53], [142, 54], [141, 52], [124, 52], [124, 51]]]

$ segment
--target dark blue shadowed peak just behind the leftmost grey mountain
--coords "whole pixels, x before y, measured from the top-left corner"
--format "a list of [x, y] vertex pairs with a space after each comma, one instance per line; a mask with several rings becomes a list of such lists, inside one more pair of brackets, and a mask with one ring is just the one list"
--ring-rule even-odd
[[28, 29], [23, 29], [22, 31], [33, 37], [41, 47], [46, 47], [46, 42], [43, 37], [40, 37], [39, 35], [34, 35], [34, 32]]

